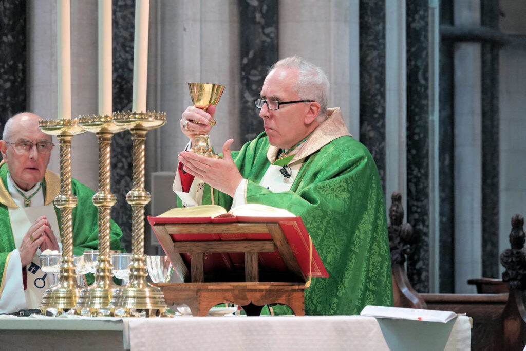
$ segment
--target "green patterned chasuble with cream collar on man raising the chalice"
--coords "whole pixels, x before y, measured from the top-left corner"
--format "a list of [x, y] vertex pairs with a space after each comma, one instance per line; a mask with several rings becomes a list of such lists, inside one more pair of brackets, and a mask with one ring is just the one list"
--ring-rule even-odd
[[[328, 109], [290, 164], [304, 162], [289, 191], [260, 186], [277, 148], [261, 133], [232, 152], [248, 179], [247, 203], [285, 208], [301, 216], [329, 278], [312, 278], [305, 290], [307, 315], [355, 315], [366, 305], [392, 306], [386, 210], [378, 170], [368, 149], [347, 132], [339, 108]], [[203, 204], [210, 203], [206, 186]], [[232, 198], [214, 190], [217, 205]], [[284, 312], [276, 306], [275, 312]]]

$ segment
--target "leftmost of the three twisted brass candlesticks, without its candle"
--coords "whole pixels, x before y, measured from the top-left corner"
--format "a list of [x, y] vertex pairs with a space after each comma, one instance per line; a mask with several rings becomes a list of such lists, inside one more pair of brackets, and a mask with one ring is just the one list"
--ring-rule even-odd
[[77, 197], [71, 192], [71, 141], [76, 134], [84, 133], [76, 119], [42, 120], [38, 124], [45, 134], [55, 135], [60, 148], [60, 193], [55, 197], [55, 206], [60, 209], [60, 242], [62, 242], [62, 261], [58, 284], [47, 289], [42, 296], [41, 312], [46, 310], [54, 316], [61, 315], [65, 309], [73, 309], [77, 304], [75, 265], [73, 264], [73, 208]]

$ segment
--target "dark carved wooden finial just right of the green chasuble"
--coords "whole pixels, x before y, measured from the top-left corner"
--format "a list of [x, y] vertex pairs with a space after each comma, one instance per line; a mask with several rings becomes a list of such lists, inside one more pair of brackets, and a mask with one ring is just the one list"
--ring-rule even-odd
[[413, 227], [409, 223], [403, 223], [402, 194], [393, 192], [391, 195], [391, 207], [389, 207], [390, 224], [387, 226], [389, 233], [389, 248], [391, 250], [391, 263], [402, 265], [406, 262], [406, 255], [412, 251], [414, 241]]

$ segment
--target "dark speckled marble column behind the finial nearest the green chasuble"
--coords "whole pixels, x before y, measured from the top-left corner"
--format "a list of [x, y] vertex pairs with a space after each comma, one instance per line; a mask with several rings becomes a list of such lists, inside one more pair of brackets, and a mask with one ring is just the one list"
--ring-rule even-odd
[[419, 238], [407, 273], [419, 293], [429, 291], [429, 7], [407, 3], [407, 222]]

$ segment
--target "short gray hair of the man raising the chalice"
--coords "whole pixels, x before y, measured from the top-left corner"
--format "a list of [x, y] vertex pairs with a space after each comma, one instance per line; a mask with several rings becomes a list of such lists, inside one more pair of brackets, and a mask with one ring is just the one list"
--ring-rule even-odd
[[322, 69], [299, 56], [280, 59], [270, 68], [297, 68], [299, 71], [295, 91], [302, 100], [313, 100], [320, 104], [320, 113], [325, 118], [329, 100], [330, 83]]

